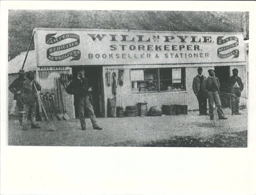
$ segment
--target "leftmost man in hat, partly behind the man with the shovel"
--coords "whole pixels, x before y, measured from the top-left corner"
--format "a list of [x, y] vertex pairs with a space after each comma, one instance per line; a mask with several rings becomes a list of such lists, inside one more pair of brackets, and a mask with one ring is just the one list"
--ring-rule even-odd
[[22, 101], [21, 89], [23, 86], [23, 82], [26, 80], [24, 76], [25, 76], [25, 71], [23, 69], [20, 69], [19, 77], [15, 79], [8, 88], [10, 92], [14, 94], [14, 99], [16, 100], [16, 105], [19, 110], [20, 125], [22, 125], [22, 112], [23, 112], [23, 101]]

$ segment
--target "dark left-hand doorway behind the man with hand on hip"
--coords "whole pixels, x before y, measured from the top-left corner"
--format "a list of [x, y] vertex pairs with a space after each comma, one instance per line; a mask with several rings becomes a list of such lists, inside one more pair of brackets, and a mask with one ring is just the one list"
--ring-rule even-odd
[[[93, 67], [73, 67], [72, 75], [77, 77], [77, 73], [80, 70], [84, 70], [85, 77], [88, 78], [93, 86], [92, 99], [93, 99], [93, 109], [96, 117], [104, 117], [104, 101], [103, 101], [103, 85], [102, 85], [102, 67], [93, 66]], [[74, 101], [77, 100], [77, 97], [74, 96]], [[85, 110], [84, 116], [88, 117], [88, 114]], [[78, 106], [75, 105], [75, 118], [79, 117]]]

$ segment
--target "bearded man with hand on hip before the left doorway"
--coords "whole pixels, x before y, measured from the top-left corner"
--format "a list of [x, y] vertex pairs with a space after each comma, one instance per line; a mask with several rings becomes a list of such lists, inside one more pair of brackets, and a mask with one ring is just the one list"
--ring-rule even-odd
[[97, 125], [96, 117], [92, 107], [92, 84], [88, 78], [84, 77], [84, 71], [81, 70], [77, 73], [77, 77], [74, 78], [71, 83], [66, 87], [66, 92], [68, 94], [74, 94], [78, 97], [79, 109], [79, 120], [82, 130], [86, 130], [85, 117], [84, 117], [84, 106], [88, 112], [91, 119], [92, 127], [96, 130], [102, 130], [101, 127]]

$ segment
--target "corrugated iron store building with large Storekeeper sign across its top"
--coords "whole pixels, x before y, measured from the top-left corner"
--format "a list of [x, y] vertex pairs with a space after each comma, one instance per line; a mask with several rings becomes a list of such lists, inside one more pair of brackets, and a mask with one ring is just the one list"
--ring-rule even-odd
[[[160, 32], [102, 29], [41, 29], [35, 31], [37, 79], [43, 93], [55, 90], [61, 74], [85, 71], [93, 86], [96, 116], [107, 116], [107, 99], [117, 106], [148, 102], [188, 105], [198, 109], [192, 90], [197, 68], [215, 69], [221, 91], [232, 69], [244, 82], [240, 106], [246, 106], [246, 47], [242, 33]], [[67, 77], [65, 77], [67, 78]], [[76, 97], [62, 90], [64, 107], [75, 117]]]

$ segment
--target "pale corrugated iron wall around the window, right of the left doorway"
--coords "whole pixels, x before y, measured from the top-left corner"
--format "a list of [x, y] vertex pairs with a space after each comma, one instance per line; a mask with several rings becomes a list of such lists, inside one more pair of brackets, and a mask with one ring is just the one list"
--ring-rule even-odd
[[[213, 65], [213, 64], [212, 64]], [[107, 106], [107, 98], [114, 97], [112, 94], [112, 73], [116, 73], [116, 102], [117, 106], [123, 106], [124, 108], [128, 105], [136, 105], [138, 102], [148, 102], [148, 108], [151, 106], [162, 106], [163, 104], [183, 104], [188, 105], [188, 110], [197, 110], [198, 101], [193, 93], [192, 83], [193, 78], [197, 75], [197, 68], [199, 67], [186, 67], [186, 91], [185, 92], [163, 92], [163, 93], [151, 93], [151, 94], [131, 94], [131, 82], [130, 82], [130, 68], [124, 68], [125, 66], [105, 66], [103, 67], [103, 80], [104, 80], [104, 96], [105, 105]], [[133, 68], [133, 67], [132, 67]], [[159, 68], [156, 66], [156, 68]], [[246, 105], [247, 95], [247, 84], [246, 84], [246, 70], [245, 65], [241, 66], [230, 66], [232, 75], [232, 69], [237, 68], [239, 70], [239, 76], [245, 83], [244, 91], [240, 98], [240, 105]], [[123, 86], [118, 83], [118, 70], [124, 69], [124, 82]], [[203, 67], [203, 75], [208, 77], [208, 69], [214, 69], [214, 66]], [[105, 73], [110, 72], [110, 86], [107, 87]], [[208, 107], [208, 105], [207, 105]], [[107, 110], [107, 109], [106, 109]], [[106, 111], [107, 112], [107, 111]]]

